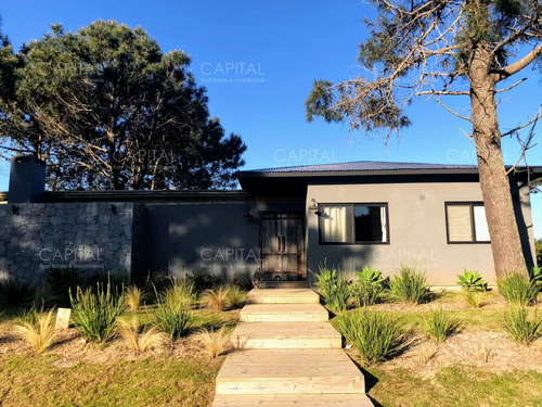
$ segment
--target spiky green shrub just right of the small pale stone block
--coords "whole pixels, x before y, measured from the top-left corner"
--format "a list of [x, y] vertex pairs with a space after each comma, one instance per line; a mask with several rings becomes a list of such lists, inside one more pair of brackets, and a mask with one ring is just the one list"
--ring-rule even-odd
[[116, 331], [116, 320], [125, 309], [125, 296], [112, 293], [111, 284], [104, 290], [96, 283], [96, 292], [83, 292], [79, 287], [75, 298], [69, 293], [74, 325], [89, 341], [105, 342]]

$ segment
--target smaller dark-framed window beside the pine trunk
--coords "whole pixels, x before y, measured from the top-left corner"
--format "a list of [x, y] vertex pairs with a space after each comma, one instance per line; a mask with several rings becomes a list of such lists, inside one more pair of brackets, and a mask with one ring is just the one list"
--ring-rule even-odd
[[482, 203], [446, 203], [449, 243], [489, 243], [488, 221]]

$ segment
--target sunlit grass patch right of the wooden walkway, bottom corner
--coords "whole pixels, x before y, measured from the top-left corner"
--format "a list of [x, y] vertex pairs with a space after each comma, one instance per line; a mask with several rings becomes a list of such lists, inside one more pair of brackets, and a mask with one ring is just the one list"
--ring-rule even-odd
[[540, 406], [542, 372], [487, 372], [472, 366], [443, 368], [434, 378], [418, 371], [367, 368], [369, 395], [383, 406]]

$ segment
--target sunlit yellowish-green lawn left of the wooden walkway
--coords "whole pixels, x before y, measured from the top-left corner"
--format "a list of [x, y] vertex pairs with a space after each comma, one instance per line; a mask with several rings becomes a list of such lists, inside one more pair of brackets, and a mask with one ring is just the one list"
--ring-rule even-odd
[[210, 406], [223, 357], [79, 363], [61, 355], [0, 358], [2, 406]]

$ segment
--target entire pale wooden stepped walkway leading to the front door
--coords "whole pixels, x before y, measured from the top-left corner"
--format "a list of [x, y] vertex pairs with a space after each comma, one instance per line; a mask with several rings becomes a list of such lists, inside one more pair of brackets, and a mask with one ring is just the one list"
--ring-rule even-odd
[[312, 290], [253, 290], [241, 320], [232, 333], [238, 351], [218, 373], [212, 407], [373, 406]]

